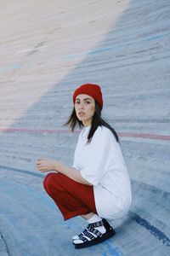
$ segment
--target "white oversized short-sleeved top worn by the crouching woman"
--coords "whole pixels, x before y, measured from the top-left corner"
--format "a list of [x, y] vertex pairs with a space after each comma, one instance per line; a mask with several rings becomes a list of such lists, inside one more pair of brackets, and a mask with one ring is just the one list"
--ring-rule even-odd
[[99, 126], [87, 143], [90, 126], [77, 142], [73, 167], [94, 186], [94, 200], [100, 217], [122, 218], [131, 205], [131, 183], [119, 143], [111, 130]]

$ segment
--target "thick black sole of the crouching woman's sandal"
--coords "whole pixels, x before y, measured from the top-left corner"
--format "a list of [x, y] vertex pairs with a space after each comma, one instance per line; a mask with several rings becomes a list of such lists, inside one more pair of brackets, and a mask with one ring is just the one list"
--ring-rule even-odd
[[92, 241], [85, 241], [83, 243], [79, 243], [79, 244], [74, 244], [76, 249], [81, 249], [81, 248], [85, 248], [85, 247], [92, 247], [95, 244], [98, 244], [102, 241], [105, 241], [109, 238], [111, 238], [112, 236], [115, 236], [116, 232], [115, 230], [111, 230], [110, 232], [105, 233], [102, 237], [98, 237]]

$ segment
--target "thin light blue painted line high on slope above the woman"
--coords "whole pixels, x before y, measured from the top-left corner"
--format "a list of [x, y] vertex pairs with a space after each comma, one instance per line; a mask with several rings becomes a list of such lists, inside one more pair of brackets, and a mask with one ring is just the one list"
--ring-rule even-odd
[[[164, 37], [167, 37], [167, 36], [170, 36], [170, 32], [165, 33], [165, 34], [161, 34], [161, 35], [158, 35], [158, 36], [155, 36], [155, 37], [151, 37], [151, 38], [145, 38], [145, 39], [142, 39], [142, 40], [139, 40], [139, 41], [129, 42], [127, 44], [116, 45], [116, 46], [110, 47], [110, 48], [97, 49], [97, 50], [94, 50], [94, 51], [90, 51], [88, 53], [82, 53], [80, 55], [70, 55], [70, 56], [59, 57], [58, 60], [73, 59], [73, 58], [76, 58], [76, 57], [81, 56], [81, 55], [99, 54], [99, 53], [109, 51], [111, 49], [119, 49], [119, 48], [131, 46], [131, 45], [134, 45], [134, 44], [142, 44], [144, 42], [149, 42], [151, 40], [156, 40], [156, 39], [164, 38]], [[32, 65], [33, 64], [25, 64], [25, 65], [19, 65], [19, 66], [14, 66], [14, 67], [0, 67], [0, 70], [5, 71], [5, 70], [8, 70], [8, 69], [14, 69], [14, 68], [19, 68], [19, 67], [30, 67]]]

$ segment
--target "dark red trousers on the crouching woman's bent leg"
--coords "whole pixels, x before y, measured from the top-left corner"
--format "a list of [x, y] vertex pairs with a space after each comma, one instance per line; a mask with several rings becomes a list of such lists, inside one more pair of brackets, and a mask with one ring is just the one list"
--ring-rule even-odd
[[48, 173], [43, 180], [44, 189], [54, 200], [64, 219], [96, 212], [93, 186], [77, 183], [61, 173]]

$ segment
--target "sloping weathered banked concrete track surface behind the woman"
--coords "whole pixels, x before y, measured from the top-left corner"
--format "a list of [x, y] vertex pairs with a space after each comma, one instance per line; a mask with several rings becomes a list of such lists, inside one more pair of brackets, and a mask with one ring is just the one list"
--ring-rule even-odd
[[[169, 0], [1, 1], [0, 255], [170, 255]], [[72, 93], [101, 86], [132, 182], [116, 236], [75, 250], [37, 158], [72, 165]]]

